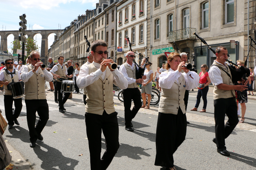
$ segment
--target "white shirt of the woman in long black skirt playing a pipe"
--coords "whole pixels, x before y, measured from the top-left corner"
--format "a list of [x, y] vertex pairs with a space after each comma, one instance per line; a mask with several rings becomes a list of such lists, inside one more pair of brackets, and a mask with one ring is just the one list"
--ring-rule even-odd
[[[174, 71], [171, 68], [169, 68], [169, 72], [162, 72], [159, 75], [159, 86], [162, 88], [170, 89], [177, 80], [181, 76], [181, 74], [184, 75], [185, 77], [185, 82], [186, 82], [186, 90], [191, 90], [192, 88], [197, 87], [199, 83], [199, 75], [195, 71], [188, 71], [188, 73], [181, 73], [178, 70]], [[191, 75], [192, 78], [189, 76]]]

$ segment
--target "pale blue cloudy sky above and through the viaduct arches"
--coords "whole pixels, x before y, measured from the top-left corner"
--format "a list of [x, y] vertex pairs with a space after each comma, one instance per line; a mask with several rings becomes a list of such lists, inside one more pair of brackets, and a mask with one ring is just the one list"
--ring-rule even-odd
[[[19, 30], [19, 16], [26, 14], [27, 30], [64, 29], [86, 9], [95, 9], [99, 0], [0, 0], [0, 31]], [[54, 41], [54, 33], [48, 36], [48, 49]], [[41, 38], [34, 36], [41, 52]], [[11, 51], [13, 35], [7, 37]]]

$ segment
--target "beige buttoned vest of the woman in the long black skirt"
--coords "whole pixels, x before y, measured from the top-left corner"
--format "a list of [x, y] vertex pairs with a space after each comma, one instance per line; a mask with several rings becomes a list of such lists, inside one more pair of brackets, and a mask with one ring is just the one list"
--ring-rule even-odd
[[[168, 70], [165, 72], [169, 72]], [[170, 113], [177, 115], [178, 108], [181, 108], [183, 114], [186, 113], [185, 104], [184, 104], [184, 95], [186, 91], [185, 77], [183, 74], [175, 80], [172, 87], [170, 89], [162, 88], [162, 94], [159, 103], [159, 112], [162, 113]]]

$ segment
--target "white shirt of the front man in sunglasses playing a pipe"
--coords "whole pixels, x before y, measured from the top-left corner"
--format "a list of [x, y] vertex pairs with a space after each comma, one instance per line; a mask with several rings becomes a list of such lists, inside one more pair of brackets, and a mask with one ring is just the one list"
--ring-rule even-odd
[[[99, 79], [99, 76], [101, 76], [102, 79], [105, 79], [106, 70], [104, 72], [99, 69], [101, 64], [93, 62], [94, 66], [98, 69], [95, 72], [92, 72], [89, 74], [89, 68], [88, 65], [83, 64], [83, 66], [80, 68], [79, 76], [76, 79], [76, 84], [79, 88], [84, 88], [89, 86], [90, 84], [93, 84], [95, 81]], [[124, 75], [118, 71], [118, 69], [111, 72], [113, 74], [113, 83], [121, 88], [126, 89], [128, 87], [127, 79], [125, 79]]]

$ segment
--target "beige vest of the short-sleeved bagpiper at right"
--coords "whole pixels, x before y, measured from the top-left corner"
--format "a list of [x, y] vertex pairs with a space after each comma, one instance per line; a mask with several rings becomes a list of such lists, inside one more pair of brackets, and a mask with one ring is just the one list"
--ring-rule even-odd
[[[222, 80], [223, 80], [223, 84], [233, 85], [232, 75], [231, 75], [231, 72], [229, 70], [229, 67], [226, 68], [222, 64], [218, 64], [217, 62], [215, 62], [215, 60], [212, 63], [212, 65], [217, 65], [217, 66], [223, 68], [223, 70], [225, 70], [227, 73], [230, 74], [231, 78], [224, 71], [219, 69], [219, 70], [221, 70], [221, 77], [222, 77]], [[227, 98], [232, 98], [232, 97], [236, 96], [234, 90], [221, 90], [217, 86], [215, 86], [215, 84], [213, 84], [213, 87], [214, 87], [214, 89], [213, 89], [213, 99], [214, 100], [220, 99], [220, 98], [227, 99]]]

